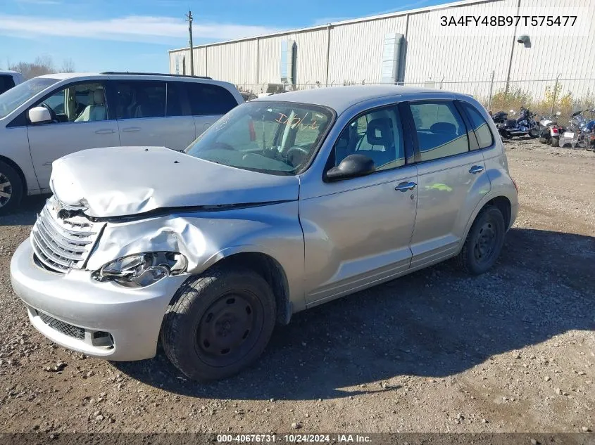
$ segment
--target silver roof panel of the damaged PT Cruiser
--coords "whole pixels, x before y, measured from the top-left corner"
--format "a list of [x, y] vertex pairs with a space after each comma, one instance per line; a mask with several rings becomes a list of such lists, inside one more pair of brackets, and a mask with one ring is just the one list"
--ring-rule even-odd
[[387, 96], [399, 96], [401, 94], [412, 93], [439, 93], [441, 95], [454, 94], [449, 91], [435, 90], [428, 88], [413, 88], [411, 86], [399, 85], [351, 85], [351, 86], [327, 86], [325, 88], [304, 89], [300, 91], [291, 91], [289, 93], [273, 94], [272, 96], [263, 96], [255, 101], [280, 101], [280, 102], [299, 102], [313, 103], [315, 105], [324, 105], [332, 108], [341, 114], [351, 105], [363, 101], [369, 101], [375, 98]]

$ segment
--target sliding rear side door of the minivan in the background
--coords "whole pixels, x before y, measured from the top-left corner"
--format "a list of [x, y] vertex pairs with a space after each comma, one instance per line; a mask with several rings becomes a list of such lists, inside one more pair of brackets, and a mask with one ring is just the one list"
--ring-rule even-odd
[[167, 84], [160, 80], [118, 80], [116, 119], [121, 146], [165, 146]]

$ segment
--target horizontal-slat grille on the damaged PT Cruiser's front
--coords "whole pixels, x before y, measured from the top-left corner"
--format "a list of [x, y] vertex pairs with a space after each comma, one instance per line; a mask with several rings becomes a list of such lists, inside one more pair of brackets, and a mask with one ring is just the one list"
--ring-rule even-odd
[[52, 196], [33, 226], [31, 243], [35, 257], [51, 271], [80, 269], [91, 252], [101, 224], [81, 215], [61, 218], [55, 205], [56, 198]]

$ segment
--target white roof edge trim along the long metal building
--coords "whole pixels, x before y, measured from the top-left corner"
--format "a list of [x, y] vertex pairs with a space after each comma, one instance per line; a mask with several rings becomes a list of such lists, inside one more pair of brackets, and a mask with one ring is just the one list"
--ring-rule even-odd
[[[407, 11], [395, 11], [393, 13], [384, 13], [384, 14], [378, 14], [378, 15], [368, 15], [368, 17], [362, 17], [362, 18], [352, 18], [350, 20], [342, 20], [340, 22], [329, 22], [329, 23], [327, 23], [325, 25], [316, 25], [316, 26], [303, 27], [303, 28], [293, 29], [293, 30], [284, 30], [284, 31], [270, 32], [269, 34], [260, 34], [260, 35], [251, 36], [251, 37], [242, 37], [240, 39], [231, 39], [231, 40], [225, 40], [225, 41], [215, 41], [215, 42], [213, 42], [211, 44], [194, 45], [193, 48], [194, 49], [197, 49], [197, 48], [206, 48], [208, 46], [231, 44], [231, 43], [234, 43], [234, 42], [237, 42], [237, 41], [246, 41], [246, 40], [253, 40], [253, 39], [263, 39], [265, 37], [282, 36], [282, 35], [285, 35], [285, 34], [292, 34], [294, 32], [322, 30], [322, 29], [325, 29], [327, 27], [334, 27], [334, 26], [340, 26], [340, 25], [349, 25], [349, 23], [370, 22], [372, 20], [379, 20], [379, 19], [382, 19], [382, 18], [399, 17], [400, 15], [425, 13], [427, 11], [438, 11], [438, 10], [441, 10], [441, 9], [456, 8], [458, 6], [466, 6], [466, 5], [471, 5], [471, 4], [491, 3], [491, 2], [494, 2], [494, 1], [502, 1], [502, 0], [461, 0], [461, 1], [454, 1], [454, 2], [451, 2], [451, 3], [446, 3], [446, 4], [441, 4], [441, 5], [425, 6], [423, 8], [409, 9]], [[189, 49], [190, 49], [189, 46], [185, 46], [184, 48], [170, 49], [168, 51], [168, 53], [175, 53], [177, 51], [187, 51]]]

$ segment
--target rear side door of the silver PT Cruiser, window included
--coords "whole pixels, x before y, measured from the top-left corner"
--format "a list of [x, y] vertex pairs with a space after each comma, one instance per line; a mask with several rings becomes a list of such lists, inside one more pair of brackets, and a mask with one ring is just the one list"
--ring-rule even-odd
[[482, 153], [454, 101], [409, 103], [418, 166], [418, 209], [411, 238], [417, 269], [458, 251], [472, 210], [489, 192]]

